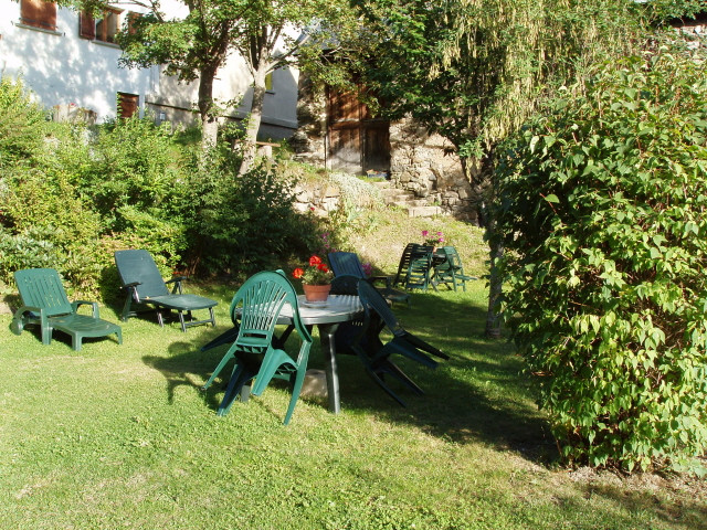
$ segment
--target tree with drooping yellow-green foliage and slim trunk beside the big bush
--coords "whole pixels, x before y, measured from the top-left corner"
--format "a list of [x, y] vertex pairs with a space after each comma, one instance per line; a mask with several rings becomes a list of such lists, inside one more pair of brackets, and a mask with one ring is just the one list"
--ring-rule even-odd
[[[378, 39], [367, 86], [391, 117], [410, 115], [457, 150], [479, 219], [494, 230], [495, 146], [560, 86], [642, 42], [630, 0], [356, 0]], [[502, 253], [492, 247], [494, 261]], [[486, 335], [500, 283], [492, 269]]]

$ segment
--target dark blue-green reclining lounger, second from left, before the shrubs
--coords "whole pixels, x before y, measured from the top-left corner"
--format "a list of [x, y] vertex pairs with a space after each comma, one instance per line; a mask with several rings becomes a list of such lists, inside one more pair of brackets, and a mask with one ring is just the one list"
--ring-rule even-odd
[[[130, 317], [136, 317], [139, 309], [149, 306], [150, 309], [156, 310], [160, 327], [165, 326], [161, 309], [177, 311], [182, 331], [200, 324], [215, 326], [213, 308], [218, 303], [203, 296], [183, 294], [181, 283], [187, 279], [184, 276], [176, 276], [165, 282], [149, 252], [117, 251], [115, 264], [123, 288], [127, 292], [120, 320], [126, 321]], [[171, 293], [167, 284], [175, 284]], [[198, 309], [209, 309], [209, 318], [193, 320], [191, 311]], [[184, 319], [184, 311], [187, 319]]]

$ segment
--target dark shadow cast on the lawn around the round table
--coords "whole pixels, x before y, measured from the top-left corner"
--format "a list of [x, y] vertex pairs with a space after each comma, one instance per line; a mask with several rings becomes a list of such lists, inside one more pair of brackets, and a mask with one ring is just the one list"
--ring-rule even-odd
[[[545, 463], [557, 453], [544, 416], [532, 403], [528, 383], [521, 375], [520, 359], [505, 340], [482, 337], [486, 312], [468, 298], [453, 294], [413, 295], [411, 308], [395, 308], [402, 325], [411, 332], [451, 356], [436, 370], [407, 359], [395, 362], [425, 391], [418, 396], [391, 383], [405, 402], [399, 406], [368, 375], [355, 357], [339, 356], [342, 409], [370, 411], [391, 422], [408, 423], [425, 432], [464, 444], [483, 442], [499, 449], [514, 451], [525, 458]], [[228, 329], [226, 326], [190, 335], [169, 346], [167, 357], [148, 356], [144, 361], [159, 370], [168, 382], [168, 398], [175, 389], [188, 385], [199, 389], [221, 360], [226, 346], [201, 352], [200, 348]], [[316, 331], [315, 331], [316, 335]], [[310, 368], [321, 368], [318, 340], [315, 339]], [[230, 368], [223, 372], [228, 378]], [[222, 381], [217, 380], [205, 399], [217, 409]]]

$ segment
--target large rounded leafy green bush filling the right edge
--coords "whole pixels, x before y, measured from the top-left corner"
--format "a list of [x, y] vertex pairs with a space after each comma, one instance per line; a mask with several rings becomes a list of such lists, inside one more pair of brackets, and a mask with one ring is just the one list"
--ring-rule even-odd
[[603, 66], [498, 168], [504, 314], [577, 464], [698, 469], [707, 448], [704, 61]]

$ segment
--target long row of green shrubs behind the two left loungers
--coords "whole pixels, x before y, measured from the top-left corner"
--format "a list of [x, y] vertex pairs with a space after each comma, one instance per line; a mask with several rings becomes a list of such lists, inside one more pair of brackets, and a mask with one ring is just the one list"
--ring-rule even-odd
[[295, 212], [291, 179], [271, 167], [236, 178], [230, 150], [177, 140], [148, 119], [48, 121], [21, 83], [2, 80], [0, 283], [54, 267], [110, 298], [118, 248], [150, 251], [165, 274], [203, 275], [250, 274], [318, 248], [324, 227]]

